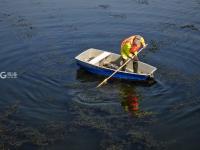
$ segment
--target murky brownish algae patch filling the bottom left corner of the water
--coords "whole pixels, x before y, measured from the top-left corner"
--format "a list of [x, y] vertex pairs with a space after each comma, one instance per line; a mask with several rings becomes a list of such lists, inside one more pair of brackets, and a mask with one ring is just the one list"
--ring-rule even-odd
[[26, 125], [15, 116], [17, 109], [19, 109], [17, 106], [18, 104], [14, 104], [0, 114], [1, 149], [41, 148], [63, 140], [64, 123], [47, 122], [41, 127]]

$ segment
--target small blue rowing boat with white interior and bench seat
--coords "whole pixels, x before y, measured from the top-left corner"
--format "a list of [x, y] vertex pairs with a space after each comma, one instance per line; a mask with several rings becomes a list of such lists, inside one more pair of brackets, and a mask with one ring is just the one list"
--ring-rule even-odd
[[[110, 76], [120, 67], [121, 56], [119, 54], [90, 48], [75, 57], [77, 64], [84, 70], [93, 74]], [[133, 63], [127, 64], [125, 71], [117, 72], [113, 78], [145, 81], [153, 79], [157, 70], [149, 64], [138, 61], [138, 73], [133, 72]]]

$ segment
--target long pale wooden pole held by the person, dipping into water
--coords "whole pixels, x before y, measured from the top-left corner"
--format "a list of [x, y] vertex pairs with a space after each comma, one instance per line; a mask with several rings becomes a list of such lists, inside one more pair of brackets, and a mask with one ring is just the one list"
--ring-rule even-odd
[[[141, 52], [144, 48], [146, 48], [147, 47], [147, 44], [144, 46], [144, 47], [142, 47], [139, 51], [138, 51], [138, 53], [139, 52]], [[114, 76], [118, 71], [120, 71], [126, 64], [128, 64], [133, 58], [135, 57], [135, 55], [133, 55], [133, 57], [132, 58], [129, 58], [123, 65], [121, 65], [115, 72], [113, 72], [109, 77], [107, 77], [106, 79], [104, 79], [101, 83], [99, 83], [98, 85], [97, 85], [97, 88], [98, 87], [100, 87], [100, 86], [102, 86], [103, 84], [105, 84], [112, 76]]]

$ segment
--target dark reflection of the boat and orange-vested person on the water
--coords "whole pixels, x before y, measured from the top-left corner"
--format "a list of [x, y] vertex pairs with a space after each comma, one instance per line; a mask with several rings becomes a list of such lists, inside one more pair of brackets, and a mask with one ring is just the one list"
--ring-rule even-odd
[[[88, 73], [87, 71], [83, 69], [78, 69], [76, 74], [76, 79], [80, 82], [95, 82], [95, 81], [102, 81], [104, 77], [102, 76], [96, 76], [91, 73]], [[123, 81], [123, 82], [122, 82]], [[145, 116], [149, 116], [152, 114], [152, 112], [145, 112], [140, 108], [141, 103], [141, 96], [136, 90], [135, 85], [143, 85], [143, 86], [149, 86], [149, 84], [136, 84], [134, 82], [133, 84], [130, 84], [130, 82], [126, 82], [124, 80], [119, 80], [117, 82], [117, 87], [119, 89], [119, 99], [122, 106], [122, 109], [126, 112], [131, 114], [134, 117], [142, 118]]]

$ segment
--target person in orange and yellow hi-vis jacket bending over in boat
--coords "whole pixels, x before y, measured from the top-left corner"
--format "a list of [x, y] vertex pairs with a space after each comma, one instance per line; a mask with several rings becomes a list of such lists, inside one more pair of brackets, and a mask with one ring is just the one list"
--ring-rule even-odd
[[[144, 38], [140, 35], [133, 35], [121, 43], [121, 56], [122, 56], [122, 62], [121, 65], [123, 65], [129, 58], [133, 58], [133, 71], [134, 73], [138, 73], [138, 50], [142, 47], [146, 47]], [[134, 56], [134, 57], [133, 57]], [[125, 71], [126, 65], [122, 68], [123, 71]]]

